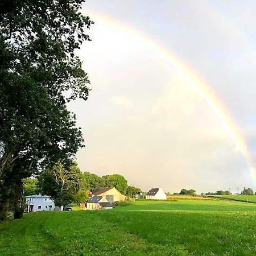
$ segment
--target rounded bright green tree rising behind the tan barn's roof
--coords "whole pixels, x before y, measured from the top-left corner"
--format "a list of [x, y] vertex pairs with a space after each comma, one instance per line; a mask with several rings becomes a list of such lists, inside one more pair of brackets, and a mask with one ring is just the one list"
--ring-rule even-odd
[[119, 174], [102, 176], [104, 187], [115, 187], [119, 192], [125, 194], [127, 189], [127, 180]]

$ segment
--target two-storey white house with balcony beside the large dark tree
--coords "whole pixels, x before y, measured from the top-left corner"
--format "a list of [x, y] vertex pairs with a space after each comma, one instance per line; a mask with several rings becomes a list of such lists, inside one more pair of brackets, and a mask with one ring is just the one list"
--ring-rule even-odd
[[53, 210], [54, 201], [49, 196], [32, 195], [26, 196], [27, 212], [40, 212], [42, 210]]

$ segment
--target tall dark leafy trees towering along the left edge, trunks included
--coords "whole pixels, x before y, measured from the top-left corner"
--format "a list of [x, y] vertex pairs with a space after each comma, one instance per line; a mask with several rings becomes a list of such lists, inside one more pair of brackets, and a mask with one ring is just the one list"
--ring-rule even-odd
[[83, 2], [0, 2], [0, 221], [10, 207], [22, 217], [24, 178], [51, 173], [58, 161], [70, 170], [83, 146], [66, 106], [89, 93], [75, 54], [92, 24]]

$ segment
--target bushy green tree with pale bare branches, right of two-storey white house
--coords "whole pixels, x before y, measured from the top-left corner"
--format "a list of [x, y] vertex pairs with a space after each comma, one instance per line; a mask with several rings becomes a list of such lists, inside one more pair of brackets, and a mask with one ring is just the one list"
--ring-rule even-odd
[[81, 171], [76, 163], [65, 168], [58, 162], [51, 170], [44, 170], [38, 176], [38, 181], [40, 192], [51, 196], [59, 207], [81, 199]]

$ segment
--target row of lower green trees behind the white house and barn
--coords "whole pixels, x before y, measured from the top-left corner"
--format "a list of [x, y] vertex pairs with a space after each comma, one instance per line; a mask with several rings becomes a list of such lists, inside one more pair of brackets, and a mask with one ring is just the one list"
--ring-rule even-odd
[[58, 207], [70, 203], [84, 203], [88, 199], [88, 190], [93, 192], [101, 187], [115, 187], [129, 197], [141, 193], [141, 189], [129, 186], [122, 175], [101, 177], [90, 172], [81, 172], [76, 163], [65, 168], [58, 162], [52, 169], [46, 168], [40, 172], [36, 179], [24, 179], [23, 183], [24, 196], [42, 193], [51, 196]]

